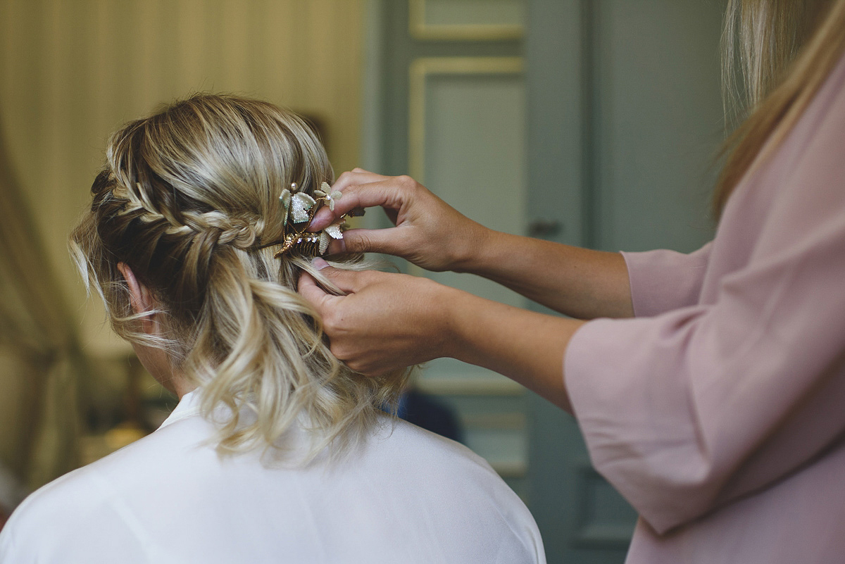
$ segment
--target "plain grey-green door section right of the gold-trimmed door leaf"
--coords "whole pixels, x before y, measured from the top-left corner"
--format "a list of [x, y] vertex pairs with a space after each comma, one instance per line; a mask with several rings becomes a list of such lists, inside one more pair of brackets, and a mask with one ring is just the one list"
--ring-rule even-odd
[[[722, 2], [531, 0], [529, 228], [608, 251], [689, 252], [722, 138]], [[529, 399], [528, 499], [549, 562], [624, 561], [634, 510], [591, 468], [575, 420]]]

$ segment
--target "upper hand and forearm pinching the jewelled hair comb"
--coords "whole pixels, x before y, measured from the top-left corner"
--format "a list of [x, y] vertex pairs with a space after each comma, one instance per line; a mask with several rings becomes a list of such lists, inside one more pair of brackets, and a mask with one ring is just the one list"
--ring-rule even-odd
[[330, 252], [385, 252], [428, 270], [479, 274], [544, 306], [580, 319], [632, 317], [630, 282], [618, 253], [597, 252], [489, 230], [407, 176], [344, 172], [335, 209], [311, 230], [352, 209], [381, 206], [395, 227], [347, 230]]

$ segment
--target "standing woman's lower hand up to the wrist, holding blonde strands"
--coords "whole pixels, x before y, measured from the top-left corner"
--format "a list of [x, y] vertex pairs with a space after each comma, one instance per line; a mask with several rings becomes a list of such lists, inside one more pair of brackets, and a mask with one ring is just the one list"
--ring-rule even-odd
[[332, 268], [320, 258], [314, 266], [347, 295], [325, 292], [308, 274], [299, 293], [322, 318], [332, 354], [352, 370], [379, 376], [448, 355], [445, 301], [458, 290], [406, 274]]

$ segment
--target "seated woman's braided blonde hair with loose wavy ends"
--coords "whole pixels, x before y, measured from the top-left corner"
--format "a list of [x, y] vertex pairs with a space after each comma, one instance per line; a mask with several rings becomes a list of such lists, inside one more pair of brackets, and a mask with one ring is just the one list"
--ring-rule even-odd
[[[74, 260], [117, 334], [166, 350], [199, 386], [206, 416], [229, 408], [217, 421], [221, 453], [284, 450], [282, 436], [300, 415], [313, 439], [305, 460], [330, 444], [338, 452], [405, 384], [406, 373], [363, 377], [335, 359], [295, 288], [308, 272], [340, 290], [309, 257], [273, 256], [284, 230], [281, 191], [296, 182], [313, 193], [332, 181], [300, 117], [231, 95], [194, 95], [108, 142], [90, 212], [71, 235]], [[164, 337], [139, 330], [118, 263], [155, 296]], [[368, 266], [360, 255], [332, 264]]]

